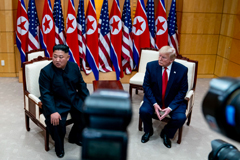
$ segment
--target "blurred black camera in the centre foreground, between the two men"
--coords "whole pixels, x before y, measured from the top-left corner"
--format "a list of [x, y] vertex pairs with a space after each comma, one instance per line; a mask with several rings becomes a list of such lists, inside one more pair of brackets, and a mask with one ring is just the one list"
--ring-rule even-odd
[[118, 90], [98, 90], [83, 105], [83, 160], [125, 160], [127, 126], [132, 118], [129, 94]]

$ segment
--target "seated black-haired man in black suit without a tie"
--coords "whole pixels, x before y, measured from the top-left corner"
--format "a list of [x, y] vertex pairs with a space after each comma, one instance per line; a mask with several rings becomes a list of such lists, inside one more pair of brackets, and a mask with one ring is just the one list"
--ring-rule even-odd
[[39, 86], [43, 114], [47, 129], [55, 141], [55, 151], [59, 158], [64, 156], [64, 136], [66, 119], [70, 112], [73, 127], [68, 141], [81, 146], [82, 104], [89, 95], [79, 67], [69, 62], [69, 48], [66, 45], [53, 47], [52, 62], [40, 72]]

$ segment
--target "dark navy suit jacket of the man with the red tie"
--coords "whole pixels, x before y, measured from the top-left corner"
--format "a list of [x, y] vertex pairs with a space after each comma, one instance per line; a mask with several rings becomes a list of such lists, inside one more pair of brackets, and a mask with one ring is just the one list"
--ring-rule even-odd
[[[173, 62], [165, 93], [165, 106], [172, 111], [185, 112], [184, 97], [188, 90], [188, 69], [184, 65]], [[144, 101], [162, 106], [162, 66], [158, 61], [147, 63], [143, 82]]]

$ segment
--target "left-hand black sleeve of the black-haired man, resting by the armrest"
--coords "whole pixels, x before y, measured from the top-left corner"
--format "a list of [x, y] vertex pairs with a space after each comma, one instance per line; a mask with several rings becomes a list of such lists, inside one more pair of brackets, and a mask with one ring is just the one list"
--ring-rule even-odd
[[39, 87], [43, 107], [46, 107], [43, 110], [48, 110], [47, 112], [50, 114], [57, 112], [53, 93], [51, 92], [51, 79], [43, 69], [41, 70], [39, 76]]

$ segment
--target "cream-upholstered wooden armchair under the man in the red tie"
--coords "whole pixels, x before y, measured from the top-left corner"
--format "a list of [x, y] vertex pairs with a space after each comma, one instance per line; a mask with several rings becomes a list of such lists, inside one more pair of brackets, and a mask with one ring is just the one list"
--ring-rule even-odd
[[[144, 51], [147, 52], [147, 51]], [[152, 51], [150, 51], [148, 54], [151, 54]], [[150, 55], [149, 55], [150, 57]], [[153, 56], [151, 56], [153, 57]], [[153, 60], [157, 60], [158, 58], [156, 57]], [[198, 70], [198, 61], [193, 61], [190, 60], [186, 57], [182, 57], [182, 56], [178, 56], [175, 59], [176, 62], [181, 63], [183, 65], [185, 65], [188, 68], [188, 92], [185, 96], [185, 101], [187, 103], [187, 110], [186, 110], [186, 117], [187, 117], [187, 125], [190, 125], [191, 122], [191, 116], [192, 116], [192, 109], [193, 109], [193, 105], [194, 105], [194, 96], [195, 96], [195, 88], [196, 88], [196, 83], [197, 83], [197, 70]], [[141, 102], [140, 106], [142, 105], [143, 101]], [[154, 119], [157, 119], [157, 115], [154, 114], [153, 115]], [[162, 121], [163, 122], [168, 122], [170, 120], [170, 117], [165, 117]], [[139, 116], [139, 123], [138, 123], [138, 129], [139, 131], [142, 131], [142, 120]], [[177, 143], [180, 144], [182, 141], [182, 129], [183, 126], [181, 128], [178, 129], [178, 140]]]

